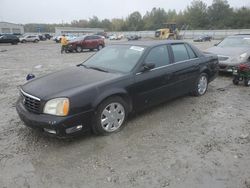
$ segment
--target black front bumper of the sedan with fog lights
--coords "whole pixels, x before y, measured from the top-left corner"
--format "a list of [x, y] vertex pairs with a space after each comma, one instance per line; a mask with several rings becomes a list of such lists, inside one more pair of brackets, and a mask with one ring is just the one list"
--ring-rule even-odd
[[16, 103], [16, 110], [20, 119], [26, 126], [39, 129], [58, 137], [76, 136], [89, 131], [93, 115], [93, 111], [65, 117], [35, 114], [29, 112], [20, 99]]

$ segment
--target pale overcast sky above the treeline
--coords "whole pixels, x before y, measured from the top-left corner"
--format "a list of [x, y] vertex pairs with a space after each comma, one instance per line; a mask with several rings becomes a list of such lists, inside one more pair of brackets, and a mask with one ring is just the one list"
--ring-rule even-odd
[[[212, 0], [204, 0], [209, 6]], [[250, 7], [250, 0], [228, 0], [231, 7]], [[126, 18], [153, 7], [183, 10], [191, 0], [0, 0], [0, 21], [13, 23], [70, 23], [72, 20]]]

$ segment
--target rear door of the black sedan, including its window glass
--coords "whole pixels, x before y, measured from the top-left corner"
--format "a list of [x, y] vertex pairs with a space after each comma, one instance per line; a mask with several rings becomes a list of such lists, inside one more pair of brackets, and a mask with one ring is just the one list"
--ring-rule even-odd
[[173, 64], [173, 81], [175, 95], [182, 95], [194, 89], [199, 76], [199, 58], [192, 48], [185, 43], [170, 45]]

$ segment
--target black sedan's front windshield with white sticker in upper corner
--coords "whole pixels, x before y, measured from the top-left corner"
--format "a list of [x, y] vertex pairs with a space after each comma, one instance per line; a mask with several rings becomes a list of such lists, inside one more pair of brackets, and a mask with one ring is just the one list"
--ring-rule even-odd
[[83, 64], [89, 68], [130, 72], [141, 57], [144, 48], [131, 45], [112, 45], [90, 57]]

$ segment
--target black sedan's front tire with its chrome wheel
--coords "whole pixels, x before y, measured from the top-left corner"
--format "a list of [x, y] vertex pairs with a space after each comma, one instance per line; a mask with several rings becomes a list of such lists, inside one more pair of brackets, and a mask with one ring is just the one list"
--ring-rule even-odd
[[93, 118], [92, 130], [97, 135], [118, 132], [127, 118], [128, 104], [119, 96], [104, 100]]

